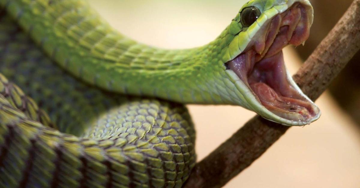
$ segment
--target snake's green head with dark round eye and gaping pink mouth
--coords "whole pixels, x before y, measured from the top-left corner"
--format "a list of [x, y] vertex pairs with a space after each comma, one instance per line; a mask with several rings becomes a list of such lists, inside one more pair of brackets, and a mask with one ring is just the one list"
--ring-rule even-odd
[[[227, 29], [233, 35], [222, 62], [237, 103], [283, 125], [306, 125], [319, 108], [287, 72], [282, 49], [309, 37], [313, 9], [307, 0], [252, 0]], [[235, 86], [235, 88], [234, 88]]]

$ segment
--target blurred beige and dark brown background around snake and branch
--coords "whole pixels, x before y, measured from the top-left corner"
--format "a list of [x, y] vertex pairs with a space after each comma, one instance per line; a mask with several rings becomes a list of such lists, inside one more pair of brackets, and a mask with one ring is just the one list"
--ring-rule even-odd
[[[121, 33], [163, 48], [204, 45], [235, 17], [245, 0], [89, 0]], [[351, 0], [312, 0], [314, 24], [304, 47], [286, 47], [291, 73], [311, 54]], [[321, 118], [293, 127], [225, 187], [360, 187], [360, 55], [316, 104]], [[188, 105], [197, 129], [198, 160], [229, 138], [255, 113], [238, 106]]]

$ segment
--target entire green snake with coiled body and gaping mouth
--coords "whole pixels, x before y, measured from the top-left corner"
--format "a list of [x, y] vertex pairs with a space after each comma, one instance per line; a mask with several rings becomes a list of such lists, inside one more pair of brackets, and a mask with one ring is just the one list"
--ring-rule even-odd
[[288, 126], [320, 116], [282, 57], [309, 36], [307, 0], [251, 0], [214, 41], [181, 50], [121, 35], [83, 0], [0, 8], [0, 187], [181, 187], [196, 161], [184, 104]]

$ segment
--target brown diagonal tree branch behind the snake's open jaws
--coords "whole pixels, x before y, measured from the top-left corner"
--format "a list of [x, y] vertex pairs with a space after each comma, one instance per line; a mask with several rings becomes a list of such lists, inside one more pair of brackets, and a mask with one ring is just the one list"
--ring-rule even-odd
[[[315, 100], [359, 49], [360, 0], [354, 0], [293, 78], [302, 91]], [[195, 165], [184, 187], [225, 185], [260, 157], [288, 128], [255, 116]]]

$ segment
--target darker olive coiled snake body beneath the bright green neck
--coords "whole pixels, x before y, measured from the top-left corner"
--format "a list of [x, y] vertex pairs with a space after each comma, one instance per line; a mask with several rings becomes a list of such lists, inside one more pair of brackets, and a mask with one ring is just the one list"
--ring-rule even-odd
[[181, 187], [195, 164], [183, 105], [87, 86], [0, 19], [0, 187]]

